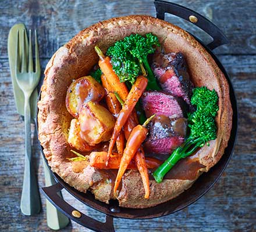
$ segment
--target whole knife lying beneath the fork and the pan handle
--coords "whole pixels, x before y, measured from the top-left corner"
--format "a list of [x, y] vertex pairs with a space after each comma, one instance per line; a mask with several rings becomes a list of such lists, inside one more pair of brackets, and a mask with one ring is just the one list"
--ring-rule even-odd
[[[26, 27], [24, 24], [15, 24], [9, 32], [9, 37], [8, 37], [8, 57], [9, 57], [9, 67], [10, 67], [10, 75], [12, 77], [12, 84], [13, 84], [13, 92], [15, 96], [15, 104], [16, 104], [16, 109], [17, 112], [20, 115], [24, 116], [24, 94], [22, 90], [19, 88], [17, 85], [16, 77], [15, 77], [15, 45], [16, 45], [16, 38], [17, 38], [17, 31], [23, 31], [25, 30], [26, 32]], [[27, 32], [25, 33], [25, 40], [26, 40], [26, 48], [27, 48], [27, 57], [29, 54], [29, 42], [27, 39]], [[21, 38], [22, 39], [22, 38]], [[23, 44], [23, 41], [20, 41], [20, 51], [22, 51], [21, 45]], [[21, 54], [20, 54], [21, 57]], [[38, 96], [38, 90], [35, 89], [33, 94], [31, 95], [30, 98], [30, 106], [31, 106], [31, 118], [33, 118], [35, 122], [35, 117], [36, 115], [36, 109], [37, 109], [37, 96]], [[54, 177], [52, 176], [51, 172], [49, 171], [49, 168], [47, 164], [44, 161], [44, 158], [42, 159], [44, 163], [44, 171], [45, 171], [45, 184], [46, 186], [50, 186], [53, 184], [56, 184], [56, 181]], [[61, 193], [60, 193], [61, 194]], [[61, 195], [62, 197], [62, 195]], [[63, 215], [63, 213], [59, 212], [54, 205], [52, 205], [48, 200], [47, 200], [47, 225], [49, 228], [53, 230], [59, 230], [67, 226], [69, 224], [69, 219]]]

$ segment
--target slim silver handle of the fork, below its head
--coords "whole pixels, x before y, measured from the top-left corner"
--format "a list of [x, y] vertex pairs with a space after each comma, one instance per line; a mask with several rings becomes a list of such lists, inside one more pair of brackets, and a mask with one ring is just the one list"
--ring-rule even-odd
[[24, 215], [34, 215], [41, 210], [40, 194], [38, 191], [35, 171], [31, 163], [31, 114], [30, 95], [25, 96], [24, 121], [25, 121], [25, 166], [20, 209]]

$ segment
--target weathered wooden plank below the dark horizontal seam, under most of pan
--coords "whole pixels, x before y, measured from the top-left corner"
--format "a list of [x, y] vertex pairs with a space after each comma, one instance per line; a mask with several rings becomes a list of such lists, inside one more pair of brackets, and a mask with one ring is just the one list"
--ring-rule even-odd
[[[163, 218], [115, 219], [117, 231], [255, 231], [256, 230], [256, 56], [219, 56], [232, 79], [240, 111], [240, 128], [233, 158], [215, 186], [195, 204]], [[47, 59], [41, 60], [42, 68]], [[45, 198], [40, 215], [20, 213], [23, 180], [24, 128], [16, 113], [8, 60], [0, 59], [0, 231], [51, 231], [46, 224]], [[35, 167], [44, 186], [42, 160], [35, 142]], [[104, 215], [64, 193], [82, 212], [103, 220]], [[62, 231], [90, 231], [77, 223]]]

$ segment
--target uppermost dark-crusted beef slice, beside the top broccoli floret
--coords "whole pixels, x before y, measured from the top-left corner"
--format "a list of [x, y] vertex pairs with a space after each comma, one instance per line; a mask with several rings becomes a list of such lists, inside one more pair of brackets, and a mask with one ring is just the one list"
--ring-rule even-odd
[[166, 55], [156, 53], [152, 62], [152, 70], [164, 91], [182, 97], [187, 104], [190, 104], [193, 84], [181, 52]]

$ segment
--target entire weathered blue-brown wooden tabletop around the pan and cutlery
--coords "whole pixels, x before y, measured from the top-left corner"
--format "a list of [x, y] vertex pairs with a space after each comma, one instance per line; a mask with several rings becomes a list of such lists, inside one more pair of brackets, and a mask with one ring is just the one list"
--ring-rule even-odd
[[[173, 1], [207, 16], [222, 28], [229, 45], [215, 50], [229, 73], [239, 107], [239, 134], [233, 158], [215, 186], [195, 204], [174, 215], [151, 220], [115, 219], [117, 231], [256, 231], [256, 2], [232, 0]], [[16, 113], [9, 75], [7, 38], [10, 27], [25, 23], [38, 30], [41, 66], [59, 46], [98, 20], [126, 14], [155, 16], [152, 1], [1, 1], [0, 4], [0, 231], [51, 231], [45, 198], [40, 215], [20, 213], [23, 179], [24, 125]], [[175, 23], [207, 41], [205, 34], [177, 17]], [[42, 160], [34, 135], [35, 168], [44, 186]], [[77, 209], [102, 220], [102, 213], [81, 205], [64, 193]], [[147, 209], [145, 209], [147, 210]], [[90, 231], [72, 223], [62, 231]]]

